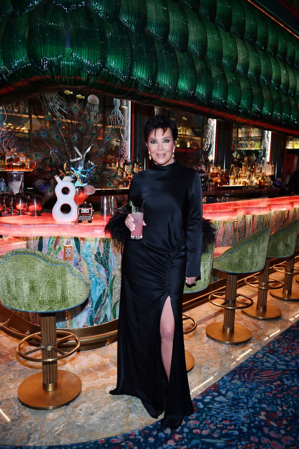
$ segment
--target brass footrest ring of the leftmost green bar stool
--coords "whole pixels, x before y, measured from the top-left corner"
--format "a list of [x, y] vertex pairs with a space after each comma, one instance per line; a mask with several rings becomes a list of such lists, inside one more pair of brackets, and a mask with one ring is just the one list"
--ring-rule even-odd
[[[22, 344], [25, 343], [27, 340], [36, 339], [39, 342], [41, 342], [41, 336], [40, 336], [41, 332], [36, 332], [35, 334], [27, 335], [19, 343], [17, 343], [17, 353], [23, 359], [30, 360], [33, 362], [54, 362], [57, 360], [65, 359], [65, 357], [69, 357], [71, 354], [74, 354], [74, 352], [78, 351], [78, 349], [80, 348], [80, 345], [81, 345], [81, 341], [77, 335], [73, 334], [72, 332], [68, 332], [67, 330], [57, 330], [57, 335], [59, 335], [59, 334], [64, 334], [65, 337], [62, 337], [61, 339], [57, 339], [57, 344], [72, 339], [72, 340], [76, 340], [76, 342], [77, 342], [76, 346], [73, 349], [71, 349], [71, 351], [69, 351], [69, 352], [61, 351], [61, 349], [57, 348], [56, 345], [55, 346], [46, 346], [46, 347], [41, 345], [38, 348], [31, 349], [30, 351], [22, 352], [20, 348], [21, 348]], [[35, 358], [35, 357], [28, 357], [28, 354], [32, 354], [33, 352], [37, 352], [37, 351], [41, 351], [42, 349], [47, 350], [47, 351], [59, 352], [61, 354], [61, 356], [52, 357], [52, 358], [48, 358], [48, 359], [39, 359], [39, 358]]]

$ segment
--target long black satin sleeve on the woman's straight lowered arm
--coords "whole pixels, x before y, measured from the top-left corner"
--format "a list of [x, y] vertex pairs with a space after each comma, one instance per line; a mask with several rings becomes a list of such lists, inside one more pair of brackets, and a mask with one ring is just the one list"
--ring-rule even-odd
[[193, 180], [187, 222], [186, 277], [200, 276], [200, 260], [203, 247], [203, 206], [200, 176], [196, 172]]

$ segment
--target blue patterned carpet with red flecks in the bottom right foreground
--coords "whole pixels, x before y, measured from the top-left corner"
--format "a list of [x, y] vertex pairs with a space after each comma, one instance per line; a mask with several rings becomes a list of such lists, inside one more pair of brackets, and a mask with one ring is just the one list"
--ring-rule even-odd
[[157, 421], [104, 440], [35, 448], [299, 449], [299, 322], [193, 402], [195, 413], [176, 432], [161, 431]]

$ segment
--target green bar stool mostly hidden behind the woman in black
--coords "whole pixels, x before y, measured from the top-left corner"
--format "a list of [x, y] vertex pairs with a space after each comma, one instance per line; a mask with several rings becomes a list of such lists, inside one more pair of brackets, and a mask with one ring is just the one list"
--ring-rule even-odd
[[[209, 285], [215, 245], [216, 245], [216, 237], [215, 241], [210, 245], [208, 245], [207, 251], [203, 252], [201, 255], [200, 279], [198, 279], [193, 286], [188, 287], [185, 284], [184, 293], [197, 293], [199, 291], [205, 290]], [[183, 313], [183, 321], [185, 320], [191, 320], [193, 322], [193, 326], [190, 329], [183, 331], [184, 334], [189, 334], [190, 332], [193, 332], [193, 330], [196, 329], [197, 322], [195, 318], [191, 317], [191, 315]], [[187, 372], [189, 372], [192, 370], [195, 364], [194, 357], [192, 356], [191, 352], [185, 350], [185, 359], [186, 359]]]

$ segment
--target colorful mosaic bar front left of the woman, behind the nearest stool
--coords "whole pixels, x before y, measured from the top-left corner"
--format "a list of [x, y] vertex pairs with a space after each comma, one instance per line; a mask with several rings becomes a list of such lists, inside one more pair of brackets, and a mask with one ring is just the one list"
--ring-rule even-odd
[[[121, 287], [121, 252], [110, 238], [29, 237], [27, 247], [63, 259], [63, 245], [73, 246], [73, 264], [91, 282], [90, 295], [82, 305], [57, 313], [57, 327], [94, 326], [118, 317]], [[38, 322], [37, 314], [30, 320]]]

